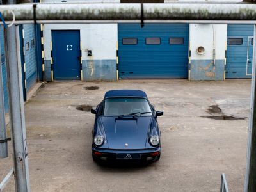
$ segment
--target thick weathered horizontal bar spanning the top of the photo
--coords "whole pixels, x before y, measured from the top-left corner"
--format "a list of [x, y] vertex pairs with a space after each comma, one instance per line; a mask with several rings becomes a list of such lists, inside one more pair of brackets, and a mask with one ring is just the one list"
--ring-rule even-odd
[[[63, 3], [63, 4], [19, 4], [0, 7], [6, 21], [11, 21], [15, 13], [15, 22], [35, 22], [40, 20], [141, 20], [141, 4], [138, 3]], [[35, 12], [35, 17], [34, 17]], [[145, 3], [143, 19], [154, 20], [209, 20], [252, 21], [256, 20], [256, 4], [221, 3]], [[189, 21], [190, 22], [190, 21]], [[56, 23], [56, 22], [55, 22]]]

